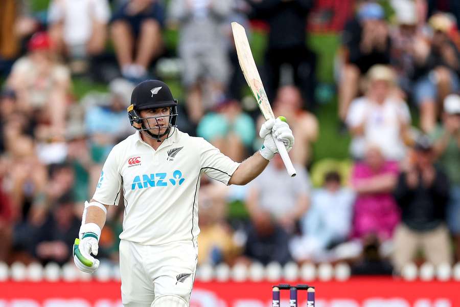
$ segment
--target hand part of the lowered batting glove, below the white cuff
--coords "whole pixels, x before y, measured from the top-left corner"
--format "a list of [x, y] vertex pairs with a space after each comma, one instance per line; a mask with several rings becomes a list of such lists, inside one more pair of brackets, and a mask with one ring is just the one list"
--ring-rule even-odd
[[99, 250], [97, 235], [87, 232], [81, 239], [75, 239], [74, 262], [80, 271], [93, 273], [99, 268], [99, 260], [91, 256], [97, 255]]

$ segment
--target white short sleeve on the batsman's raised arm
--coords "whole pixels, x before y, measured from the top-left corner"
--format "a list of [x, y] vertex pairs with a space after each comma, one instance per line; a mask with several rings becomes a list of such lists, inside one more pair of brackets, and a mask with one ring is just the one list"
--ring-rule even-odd
[[219, 149], [202, 138], [200, 140], [200, 168], [210, 178], [228, 185], [240, 163], [225, 156]]

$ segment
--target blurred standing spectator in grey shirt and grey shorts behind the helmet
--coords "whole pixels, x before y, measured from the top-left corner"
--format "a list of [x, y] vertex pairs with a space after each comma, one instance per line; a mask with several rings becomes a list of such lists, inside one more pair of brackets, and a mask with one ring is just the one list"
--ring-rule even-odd
[[179, 27], [188, 113], [195, 124], [225, 92], [229, 69], [222, 26], [232, 6], [231, 0], [172, 0], [170, 4], [171, 21]]

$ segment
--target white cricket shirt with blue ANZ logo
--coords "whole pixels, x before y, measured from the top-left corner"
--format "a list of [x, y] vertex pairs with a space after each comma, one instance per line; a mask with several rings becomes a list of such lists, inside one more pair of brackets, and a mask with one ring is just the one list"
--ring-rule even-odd
[[196, 240], [201, 174], [228, 184], [239, 165], [178, 129], [157, 150], [136, 131], [110, 151], [93, 199], [117, 205], [123, 189], [121, 239], [144, 245]]

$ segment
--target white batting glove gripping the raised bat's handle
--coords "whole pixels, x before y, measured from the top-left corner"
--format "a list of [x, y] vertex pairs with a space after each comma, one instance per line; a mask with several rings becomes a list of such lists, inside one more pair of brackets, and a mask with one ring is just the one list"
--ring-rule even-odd
[[263, 123], [259, 131], [259, 136], [264, 139], [264, 145], [260, 148], [260, 154], [266, 160], [271, 160], [278, 152], [274, 138], [284, 143], [286, 150], [289, 151], [294, 146], [294, 136], [289, 128], [286, 118], [279, 116], [276, 120], [269, 119]]

